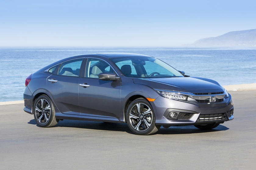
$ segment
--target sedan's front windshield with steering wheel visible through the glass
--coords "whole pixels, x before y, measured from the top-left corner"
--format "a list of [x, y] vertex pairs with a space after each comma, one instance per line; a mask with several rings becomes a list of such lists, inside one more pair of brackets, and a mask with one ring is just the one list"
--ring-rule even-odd
[[184, 77], [179, 71], [154, 57], [124, 57], [112, 61], [126, 77]]

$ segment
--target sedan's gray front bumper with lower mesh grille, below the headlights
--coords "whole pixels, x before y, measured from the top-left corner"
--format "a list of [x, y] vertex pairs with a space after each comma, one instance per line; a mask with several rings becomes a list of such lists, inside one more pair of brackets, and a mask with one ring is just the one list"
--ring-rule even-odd
[[[152, 102], [152, 106], [155, 110], [155, 122], [158, 125], [210, 124], [233, 120], [234, 107], [231, 100], [229, 95], [222, 102], [201, 104], [158, 97]], [[171, 112], [176, 112], [179, 116], [171, 118], [169, 116]]]

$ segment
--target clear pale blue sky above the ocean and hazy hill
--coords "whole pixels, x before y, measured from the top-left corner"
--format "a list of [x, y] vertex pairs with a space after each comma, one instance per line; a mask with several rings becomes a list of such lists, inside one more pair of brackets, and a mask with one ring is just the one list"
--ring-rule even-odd
[[256, 29], [256, 1], [0, 1], [0, 46], [180, 46]]

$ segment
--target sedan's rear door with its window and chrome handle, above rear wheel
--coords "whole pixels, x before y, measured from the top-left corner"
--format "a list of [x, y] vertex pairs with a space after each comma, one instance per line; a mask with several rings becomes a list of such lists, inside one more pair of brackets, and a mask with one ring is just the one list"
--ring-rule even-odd
[[83, 59], [64, 62], [56, 74], [47, 78], [53, 102], [64, 114], [80, 114], [78, 90], [82, 63]]

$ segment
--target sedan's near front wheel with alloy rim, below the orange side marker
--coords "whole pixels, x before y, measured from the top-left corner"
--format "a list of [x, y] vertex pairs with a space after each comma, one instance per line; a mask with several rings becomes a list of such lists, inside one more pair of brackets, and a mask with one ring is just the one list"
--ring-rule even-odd
[[126, 121], [130, 130], [139, 135], [154, 134], [161, 126], [155, 124], [154, 111], [144, 98], [131, 102], [126, 112]]

